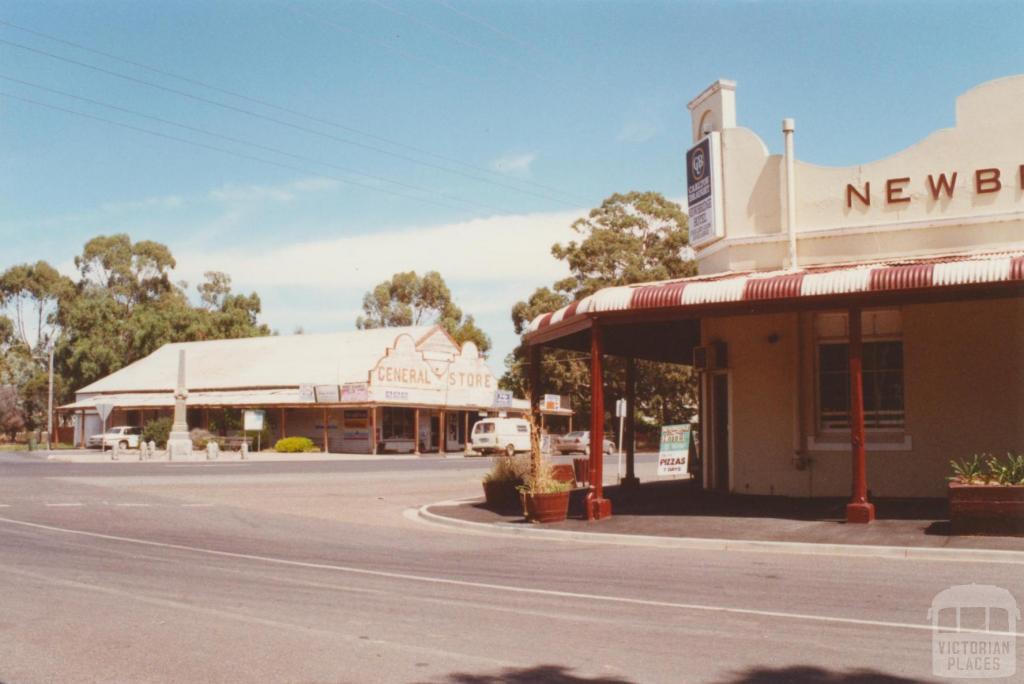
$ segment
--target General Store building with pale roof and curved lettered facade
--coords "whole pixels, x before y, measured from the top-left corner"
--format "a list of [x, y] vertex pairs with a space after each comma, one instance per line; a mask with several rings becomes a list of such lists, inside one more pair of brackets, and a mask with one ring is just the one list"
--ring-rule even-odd
[[[521, 415], [472, 342], [438, 326], [381, 328], [168, 344], [82, 388], [60, 411], [76, 417], [76, 442], [111, 425], [144, 425], [174, 407], [185, 352], [189, 427], [241, 427], [261, 410], [270, 439], [305, 436], [333, 453], [462, 452], [482, 416]], [[559, 410], [552, 413], [567, 414]]]

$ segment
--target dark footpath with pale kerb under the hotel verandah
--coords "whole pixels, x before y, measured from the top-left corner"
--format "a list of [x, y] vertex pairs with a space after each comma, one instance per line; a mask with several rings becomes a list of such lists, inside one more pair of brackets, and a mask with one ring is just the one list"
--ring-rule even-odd
[[519, 510], [490, 510], [482, 497], [431, 504], [418, 514], [463, 529], [577, 542], [1024, 564], [1024, 538], [950, 535], [942, 499], [877, 500], [874, 522], [848, 524], [842, 499], [719, 495], [686, 480], [645, 482], [626, 491], [605, 486], [612, 516], [588, 521], [583, 494], [574, 493], [568, 519], [543, 525], [525, 522]]

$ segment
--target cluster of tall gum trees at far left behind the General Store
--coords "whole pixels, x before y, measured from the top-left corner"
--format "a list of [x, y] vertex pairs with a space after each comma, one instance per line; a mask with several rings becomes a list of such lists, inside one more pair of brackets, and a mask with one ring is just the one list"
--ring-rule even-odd
[[39, 261], [0, 274], [0, 384], [16, 388], [27, 427], [45, 424], [47, 348], [54, 343], [58, 403], [76, 390], [164, 344], [268, 335], [260, 300], [231, 292], [226, 273], [208, 272], [194, 304], [160, 243], [124, 233], [89, 240], [75, 257], [78, 279]]

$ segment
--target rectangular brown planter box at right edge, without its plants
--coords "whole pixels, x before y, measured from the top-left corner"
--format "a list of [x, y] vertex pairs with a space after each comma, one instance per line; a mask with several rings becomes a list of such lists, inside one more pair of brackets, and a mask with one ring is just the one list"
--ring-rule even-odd
[[1024, 485], [949, 483], [953, 535], [1024, 537]]

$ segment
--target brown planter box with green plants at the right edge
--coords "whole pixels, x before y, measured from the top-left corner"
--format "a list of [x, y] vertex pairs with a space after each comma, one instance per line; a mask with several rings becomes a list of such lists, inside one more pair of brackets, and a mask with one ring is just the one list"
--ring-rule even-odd
[[953, 535], [1024, 536], [1024, 454], [1005, 459], [976, 454], [950, 466]]

